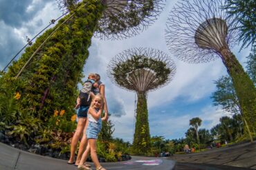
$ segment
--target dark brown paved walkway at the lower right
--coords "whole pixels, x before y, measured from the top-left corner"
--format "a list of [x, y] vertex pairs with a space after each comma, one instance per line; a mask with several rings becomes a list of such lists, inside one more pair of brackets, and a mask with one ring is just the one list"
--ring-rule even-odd
[[[223, 169], [256, 169], [256, 141], [232, 147], [209, 149], [199, 153], [175, 154], [170, 159], [179, 165], [191, 167], [222, 167]], [[203, 168], [202, 168], [203, 169]], [[206, 169], [206, 168], [205, 168]]]

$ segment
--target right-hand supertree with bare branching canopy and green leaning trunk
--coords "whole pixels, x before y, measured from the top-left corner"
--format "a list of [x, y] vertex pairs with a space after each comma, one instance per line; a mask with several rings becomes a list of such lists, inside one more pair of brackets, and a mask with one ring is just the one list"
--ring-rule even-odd
[[[221, 58], [232, 78], [244, 125], [255, 131], [256, 89], [248, 74], [230, 51], [239, 25], [223, 10], [222, 0], [181, 0], [170, 12], [165, 30], [167, 46], [178, 59], [204, 63]], [[252, 139], [252, 138], [251, 138]]]

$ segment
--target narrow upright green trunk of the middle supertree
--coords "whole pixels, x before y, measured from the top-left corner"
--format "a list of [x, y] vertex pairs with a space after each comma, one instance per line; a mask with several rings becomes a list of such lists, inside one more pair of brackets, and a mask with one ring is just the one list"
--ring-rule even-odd
[[134, 152], [145, 155], [150, 152], [150, 134], [147, 111], [147, 98], [145, 92], [138, 92], [138, 103], [136, 110], [136, 126], [134, 133]]

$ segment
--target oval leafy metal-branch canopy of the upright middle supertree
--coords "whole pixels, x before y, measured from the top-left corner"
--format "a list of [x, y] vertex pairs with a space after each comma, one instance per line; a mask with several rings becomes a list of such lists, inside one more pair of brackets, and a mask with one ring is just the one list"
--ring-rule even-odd
[[107, 66], [107, 74], [119, 87], [149, 92], [170, 83], [176, 66], [160, 50], [136, 47], [117, 54]]

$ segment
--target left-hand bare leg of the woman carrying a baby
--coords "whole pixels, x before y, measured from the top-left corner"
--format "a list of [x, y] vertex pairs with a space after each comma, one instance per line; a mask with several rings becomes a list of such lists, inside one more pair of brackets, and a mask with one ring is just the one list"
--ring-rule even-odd
[[77, 149], [77, 142], [82, 136], [82, 131], [86, 124], [86, 118], [78, 118], [77, 127], [75, 129], [75, 134], [71, 140], [71, 156], [68, 160], [68, 163], [73, 163], [75, 160], [75, 150]]

